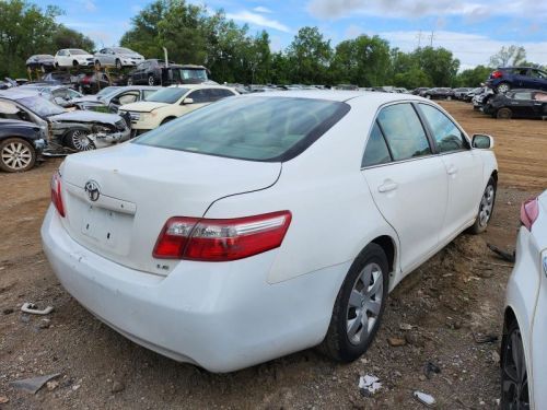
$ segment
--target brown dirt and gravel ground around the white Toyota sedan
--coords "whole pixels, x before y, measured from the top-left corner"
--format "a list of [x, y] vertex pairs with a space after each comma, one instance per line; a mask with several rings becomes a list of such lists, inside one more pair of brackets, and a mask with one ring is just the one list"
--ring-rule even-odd
[[[49, 177], [60, 161], [0, 174], [0, 409], [421, 409], [414, 390], [434, 396], [442, 409], [496, 408], [499, 340], [477, 340], [500, 337], [511, 266], [486, 243], [513, 249], [520, 203], [547, 188], [547, 124], [494, 120], [459, 102], [442, 105], [469, 133], [496, 138], [493, 219], [485, 234], [461, 235], [399, 284], [371, 349], [349, 365], [307, 350], [216, 375], [128, 341], [63, 291], [42, 253]], [[28, 301], [55, 311], [48, 320], [22, 314]], [[426, 372], [428, 363], [440, 373]], [[56, 383], [36, 395], [9, 385], [53, 373], [60, 374]], [[365, 374], [382, 383], [373, 397], [359, 391]]]

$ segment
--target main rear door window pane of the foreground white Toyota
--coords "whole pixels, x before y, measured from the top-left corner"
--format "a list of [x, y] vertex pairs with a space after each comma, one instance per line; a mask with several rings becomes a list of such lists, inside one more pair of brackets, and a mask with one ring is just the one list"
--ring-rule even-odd
[[395, 104], [383, 108], [377, 121], [389, 144], [394, 161], [431, 154], [426, 131], [410, 104]]

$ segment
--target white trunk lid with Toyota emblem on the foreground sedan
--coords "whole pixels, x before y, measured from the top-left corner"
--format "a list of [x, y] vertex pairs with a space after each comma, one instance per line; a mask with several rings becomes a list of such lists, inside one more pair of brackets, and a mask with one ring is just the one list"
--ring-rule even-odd
[[133, 143], [72, 154], [60, 169], [62, 223], [75, 242], [107, 259], [168, 274], [181, 261], [152, 257], [167, 219], [202, 216], [219, 198], [274, 185], [280, 172], [280, 163]]

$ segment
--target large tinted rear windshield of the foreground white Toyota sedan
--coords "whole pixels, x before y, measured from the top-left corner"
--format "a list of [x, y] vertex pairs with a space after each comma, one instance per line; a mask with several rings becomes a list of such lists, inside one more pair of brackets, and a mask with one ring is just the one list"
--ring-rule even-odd
[[288, 161], [346, 113], [339, 102], [292, 97], [233, 97], [208, 105], [135, 143], [248, 161]]

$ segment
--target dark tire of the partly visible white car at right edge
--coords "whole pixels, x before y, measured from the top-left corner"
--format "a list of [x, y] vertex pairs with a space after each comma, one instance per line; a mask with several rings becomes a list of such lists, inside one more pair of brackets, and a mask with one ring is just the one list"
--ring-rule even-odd
[[501, 341], [501, 409], [529, 409], [526, 358], [514, 319]]

